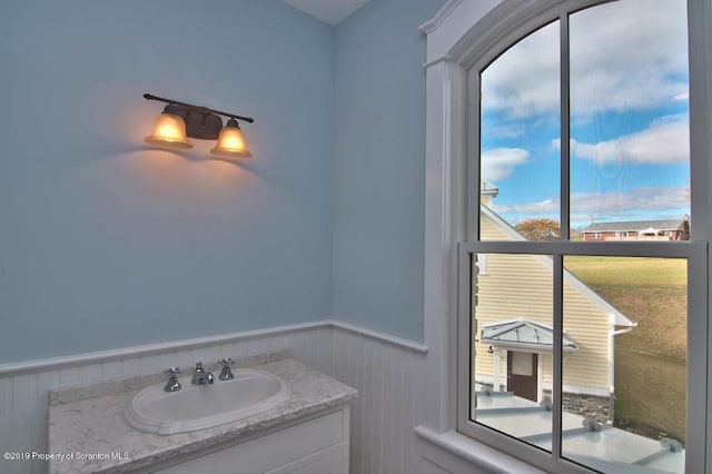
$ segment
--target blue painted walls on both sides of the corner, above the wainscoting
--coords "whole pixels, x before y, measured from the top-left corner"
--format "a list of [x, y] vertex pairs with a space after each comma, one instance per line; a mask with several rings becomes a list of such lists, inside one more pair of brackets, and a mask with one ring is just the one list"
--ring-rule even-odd
[[[335, 317], [423, 338], [425, 38], [277, 0], [0, 6], [0, 363]], [[144, 144], [144, 92], [255, 155]]]

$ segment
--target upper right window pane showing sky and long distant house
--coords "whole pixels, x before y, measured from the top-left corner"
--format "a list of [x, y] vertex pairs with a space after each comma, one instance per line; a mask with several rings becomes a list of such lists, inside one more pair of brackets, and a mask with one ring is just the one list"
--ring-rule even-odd
[[571, 223], [584, 240], [689, 239], [686, 2], [570, 17]]

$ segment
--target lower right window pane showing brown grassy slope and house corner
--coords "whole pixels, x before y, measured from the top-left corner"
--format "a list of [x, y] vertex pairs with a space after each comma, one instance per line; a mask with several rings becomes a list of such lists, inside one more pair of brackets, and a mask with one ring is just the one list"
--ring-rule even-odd
[[568, 256], [564, 267], [563, 416], [577, 426], [564, 426], [563, 456], [684, 472], [686, 260]]

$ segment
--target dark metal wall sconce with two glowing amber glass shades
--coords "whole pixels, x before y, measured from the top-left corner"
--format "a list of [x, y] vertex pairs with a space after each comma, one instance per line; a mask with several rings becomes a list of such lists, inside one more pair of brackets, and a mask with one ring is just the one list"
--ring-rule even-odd
[[[217, 145], [210, 150], [212, 155], [239, 158], [253, 156], [238, 124], [238, 120], [251, 124], [255, 121], [253, 118], [197, 107], [150, 93], [145, 93], [144, 98], [168, 103], [156, 119], [151, 135], [145, 138], [146, 142], [161, 147], [192, 148], [188, 137], [201, 140], [217, 139]], [[222, 127], [222, 119], [218, 116], [229, 117], [225, 127]]]

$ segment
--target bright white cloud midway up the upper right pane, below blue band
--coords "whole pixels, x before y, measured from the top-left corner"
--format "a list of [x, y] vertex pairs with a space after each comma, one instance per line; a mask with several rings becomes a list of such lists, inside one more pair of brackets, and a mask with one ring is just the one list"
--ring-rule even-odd
[[[560, 148], [561, 141], [553, 140]], [[645, 130], [613, 140], [584, 144], [571, 140], [571, 151], [601, 165], [611, 162], [674, 164], [690, 161], [690, 126], [686, 118], [665, 117]]]

